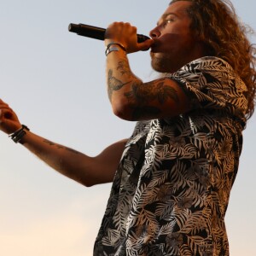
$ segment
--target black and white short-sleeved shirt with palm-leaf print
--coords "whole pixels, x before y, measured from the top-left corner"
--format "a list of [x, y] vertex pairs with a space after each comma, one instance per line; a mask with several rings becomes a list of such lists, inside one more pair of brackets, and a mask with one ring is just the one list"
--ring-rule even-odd
[[192, 108], [139, 121], [125, 146], [95, 256], [224, 256], [224, 215], [241, 154], [247, 87], [203, 57], [172, 73]]

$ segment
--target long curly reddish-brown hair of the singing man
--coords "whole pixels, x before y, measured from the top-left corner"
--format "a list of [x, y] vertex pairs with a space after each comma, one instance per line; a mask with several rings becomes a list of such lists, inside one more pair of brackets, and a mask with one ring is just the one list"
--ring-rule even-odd
[[[172, 0], [176, 3], [182, 0]], [[229, 0], [185, 0], [191, 29], [206, 45], [207, 55], [217, 56], [230, 63], [247, 85], [247, 113], [253, 115], [256, 94], [256, 48], [247, 37], [253, 29], [243, 24]]]

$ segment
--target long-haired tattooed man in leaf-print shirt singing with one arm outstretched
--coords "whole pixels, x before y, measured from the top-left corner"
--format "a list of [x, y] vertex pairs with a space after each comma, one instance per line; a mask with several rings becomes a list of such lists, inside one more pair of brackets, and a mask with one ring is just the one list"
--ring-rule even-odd
[[[132, 136], [90, 157], [20, 125], [0, 102], [0, 128], [49, 166], [85, 186], [113, 182], [95, 256], [227, 256], [224, 225], [253, 114], [255, 59], [246, 27], [221, 0], [172, 1], [151, 39], [114, 22], [106, 31], [113, 113]], [[161, 77], [143, 83], [127, 54], [150, 48]]]

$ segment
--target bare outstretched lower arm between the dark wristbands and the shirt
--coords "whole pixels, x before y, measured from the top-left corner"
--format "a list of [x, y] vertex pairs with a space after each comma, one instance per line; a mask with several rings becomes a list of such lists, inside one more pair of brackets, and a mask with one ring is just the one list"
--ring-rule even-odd
[[119, 148], [115, 150], [116, 155], [113, 155], [107, 162], [105, 160], [107, 157], [104, 158], [102, 154], [90, 157], [72, 148], [50, 142], [31, 131], [26, 133], [21, 143], [55, 171], [82, 183], [84, 186], [112, 182], [125, 145], [125, 143], [120, 143]]

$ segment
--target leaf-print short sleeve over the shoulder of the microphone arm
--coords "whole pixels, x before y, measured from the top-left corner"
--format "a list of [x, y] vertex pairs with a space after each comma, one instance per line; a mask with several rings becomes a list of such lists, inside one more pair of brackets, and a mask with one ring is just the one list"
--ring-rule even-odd
[[189, 62], [171, 75], [191, 99], [191, 108], [215, 108], [245, 119], [247, 86], [230, 64], [217, 57]]

